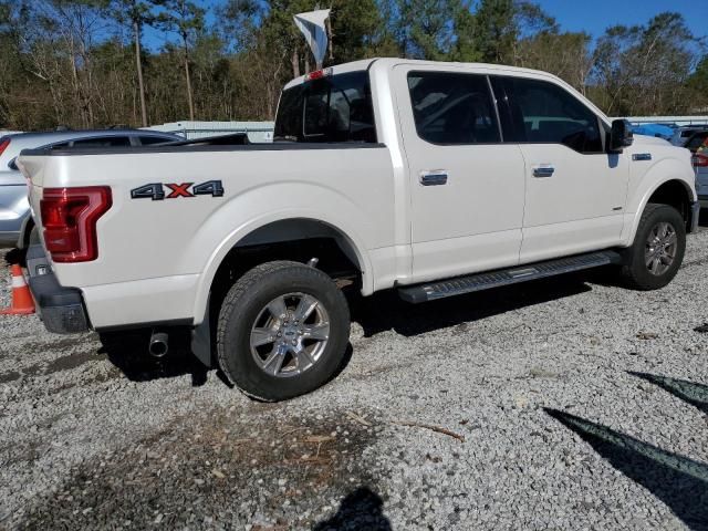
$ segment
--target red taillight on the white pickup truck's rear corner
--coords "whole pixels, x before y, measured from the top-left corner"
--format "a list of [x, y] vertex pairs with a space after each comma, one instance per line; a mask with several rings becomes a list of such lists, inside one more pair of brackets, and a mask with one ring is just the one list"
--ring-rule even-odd
[[107, 186], [45, 188], [40, 201], [44, 246], [55, 262], [98, 257], [96, 221], [113, 204]]

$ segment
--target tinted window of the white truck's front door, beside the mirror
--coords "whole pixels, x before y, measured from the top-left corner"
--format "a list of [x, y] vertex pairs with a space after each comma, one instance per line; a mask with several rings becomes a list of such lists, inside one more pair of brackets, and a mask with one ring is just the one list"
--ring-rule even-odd
[[580, 153], [602, 153], [600, 121], [571, 93], [553, 83], [522, 77], [494, 77], [502, 103], [504, 140], [563, 144]]

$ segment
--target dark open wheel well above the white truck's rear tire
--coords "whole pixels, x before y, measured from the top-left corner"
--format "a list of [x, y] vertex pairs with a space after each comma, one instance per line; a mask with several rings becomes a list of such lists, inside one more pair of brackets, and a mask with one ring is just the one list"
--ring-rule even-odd
[[275, 221], [241, 239], [219, 264], [210, 290], [211, 319], [233, 282], [250, 269], [274, 260], [305, 263], [312, 258], [341, 288], [361, 289], [363, 268], [353, 243], [342, 232], [311, 219]]

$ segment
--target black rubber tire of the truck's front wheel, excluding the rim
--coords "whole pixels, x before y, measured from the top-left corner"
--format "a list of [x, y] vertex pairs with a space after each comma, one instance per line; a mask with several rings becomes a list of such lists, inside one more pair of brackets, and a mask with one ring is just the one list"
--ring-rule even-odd
[[[646, 242], [649, 232], [662, 222], [669, 223], [676, 231], [676, 251], [669, 268], [662, 274], [654, 274], [646, 264]], [[622, 274], [628, 288], [642, 291], [658, 290], [668, 284], [684, 261], [686, 252], [686, 222], [674, 207], [648, 204], [642, 214], [634, 243], [624, 253]]]

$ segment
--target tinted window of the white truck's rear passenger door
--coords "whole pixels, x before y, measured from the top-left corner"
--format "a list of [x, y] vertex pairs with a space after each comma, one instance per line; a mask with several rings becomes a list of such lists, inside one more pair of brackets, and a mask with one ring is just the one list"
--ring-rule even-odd
[[418, 136], [431, 144], [500, 142], [487, 77], [412, 72], [408, 91]]

